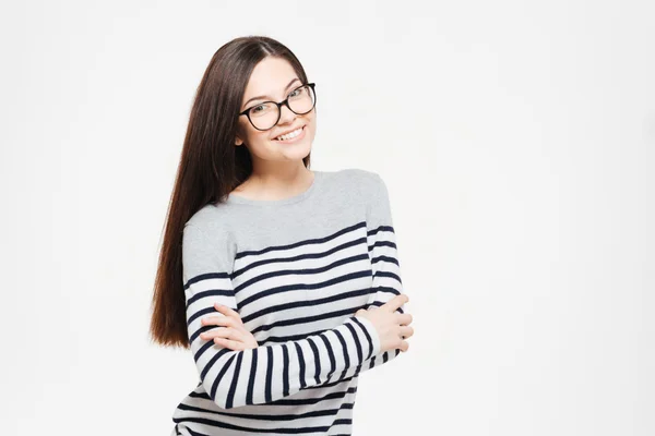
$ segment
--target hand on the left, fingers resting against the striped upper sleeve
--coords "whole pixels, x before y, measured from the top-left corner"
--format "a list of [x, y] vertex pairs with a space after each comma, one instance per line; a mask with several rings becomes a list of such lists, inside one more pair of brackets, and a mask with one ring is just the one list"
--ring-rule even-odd
[[218, 303], [215, 303], [214, 307], [225, 316], [205, 316], [201, 319], [201, 324], [203, 326], [216, 325], [222, 327], [200, 334], [202, 339], [213, 338], [214, 343], [235, 351], [259, 347], [254, 336], [243, 326], [238, 312]]

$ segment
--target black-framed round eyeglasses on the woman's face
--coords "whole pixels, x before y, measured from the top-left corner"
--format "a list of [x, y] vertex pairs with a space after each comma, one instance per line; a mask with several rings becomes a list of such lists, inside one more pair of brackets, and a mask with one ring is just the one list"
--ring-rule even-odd
[[248, 117], [250, 124], [257, 130], [271, 130], [279, 121], [282, 114], [282, 106], [285, 105], [289, 110], [298, 116], [311, 112], [317, 105], [317, 93], [314, 90], [314, 83], [308, 83], [302, 86], [298, 86], [291, 90], [284, 101], [264, 101], [255, 106], [252, 106], [241, 113], [240, 116]]

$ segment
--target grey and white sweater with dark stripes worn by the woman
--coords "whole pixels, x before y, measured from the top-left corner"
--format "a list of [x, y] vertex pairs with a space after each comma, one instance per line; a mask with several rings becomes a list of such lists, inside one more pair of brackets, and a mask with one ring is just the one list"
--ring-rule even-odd
[[[362, 169], [313, 174], [301, 194], [230, 194], [186, 223], [183, 289], [200, 377], [175, 409], [171, 436], [352, 435], [359, 374], [400, 354], [380, 352], [373, 325], [355, 316], [403, 292], [386, 186]], [[222, 316], [216, 302], [239, 313], [258, 348], [200, 337], [218, 328], [201, 325]]]

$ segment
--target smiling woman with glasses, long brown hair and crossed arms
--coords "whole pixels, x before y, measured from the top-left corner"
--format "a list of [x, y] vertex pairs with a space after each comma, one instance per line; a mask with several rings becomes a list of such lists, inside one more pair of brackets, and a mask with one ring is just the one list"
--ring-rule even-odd
[[353, 432], [359, 373], [413, 335], [388, 191], [311, 171], [315, 85], [285, 46], [236, 38], [198, 88], [151, 334], [200, 380], [171, 435]]

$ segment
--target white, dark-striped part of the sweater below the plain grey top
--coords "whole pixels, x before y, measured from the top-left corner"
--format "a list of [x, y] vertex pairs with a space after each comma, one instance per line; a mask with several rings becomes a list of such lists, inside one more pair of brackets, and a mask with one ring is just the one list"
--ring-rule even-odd
[[[354, 316], [403, 292], [383, 194], [379, 210], [330, 234], [226, 252], [213, 257], [211, 270], [183, 257], [201, 382], [177, 407], [172, 435], [350, 434], [359, 373], [400, 353], [380, 353], [372, 324]], [[188, 225], [184, 253], [206, 252], [207, 238]], [[200, 338], [216, 328], [201, 326], [217, 314], [216, 302], [239, 312], [258, 348], [233, 351]]]

